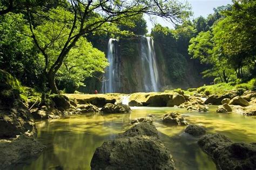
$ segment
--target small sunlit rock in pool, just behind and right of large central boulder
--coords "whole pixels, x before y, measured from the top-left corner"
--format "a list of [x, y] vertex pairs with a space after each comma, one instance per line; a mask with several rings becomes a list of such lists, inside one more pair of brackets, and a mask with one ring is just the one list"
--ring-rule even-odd
[[181, 126], [188, 125], [187, 121], [178, 112], [166, 113], [162, 115], [162, 120], [164, 124], [168, 124], [168, 125], [181, 125]]

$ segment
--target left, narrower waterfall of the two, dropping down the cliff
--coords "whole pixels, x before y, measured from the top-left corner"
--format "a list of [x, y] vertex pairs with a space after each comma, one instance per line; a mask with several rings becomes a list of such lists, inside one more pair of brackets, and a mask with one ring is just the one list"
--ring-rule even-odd
[[117, 72], [118, 72], [118, 57], [115, 42], [117, 39], [110, 38], [107, 44], [107, 60], [109, 66], [105, 70], [105, 81], [103, 81], [102, 92], [113, 93], [116, 92]]

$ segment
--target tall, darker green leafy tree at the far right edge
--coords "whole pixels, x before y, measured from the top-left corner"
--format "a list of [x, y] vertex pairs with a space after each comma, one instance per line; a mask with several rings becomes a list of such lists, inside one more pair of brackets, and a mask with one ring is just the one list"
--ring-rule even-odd
[[237, 77], [242, 78], [244, 66], [255, 67], [256, 2], [235, 2], [231, 11], [223, 13], [226, 17], [213, 27], [213, 39], [232, 63]]

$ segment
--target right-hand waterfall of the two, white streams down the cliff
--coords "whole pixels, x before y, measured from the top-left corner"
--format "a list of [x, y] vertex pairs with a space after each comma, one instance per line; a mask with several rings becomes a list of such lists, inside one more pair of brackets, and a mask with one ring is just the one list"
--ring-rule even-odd
[[151, 37], [141, 39], [141, 57], [143, 70], [143, 83], [145, 92], [159, 91], [159, 74], [156, 62], [156, 52], [154, 51], [154, 41]]

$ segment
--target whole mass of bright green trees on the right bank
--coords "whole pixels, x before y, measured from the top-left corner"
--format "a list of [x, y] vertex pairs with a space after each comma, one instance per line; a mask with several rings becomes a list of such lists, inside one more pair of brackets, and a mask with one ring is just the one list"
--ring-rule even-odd
[[215, 83], [252, 77], [255, 70], [255, 9], [255, 2], [219, 8], [214, 13], [219, 20], [215, 20], [212, 30], [203, 30], [206, 32], [190, 40], [190, 55], [211, 66], [202, 72], [204, 77], [217, 77]]

